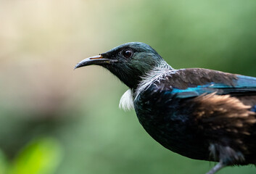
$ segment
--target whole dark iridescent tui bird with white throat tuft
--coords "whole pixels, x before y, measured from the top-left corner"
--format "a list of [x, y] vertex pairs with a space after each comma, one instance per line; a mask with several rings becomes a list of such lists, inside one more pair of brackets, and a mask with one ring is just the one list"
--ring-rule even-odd
[[128, 91], [123, 109], [135, 109], [154, 140], [191, 159], [225, 166], [256, 164], [256, 78], [217, 70], [175, 70], [146, 43], [131, 42], [89, 57], [75, 68], [100, 65]]

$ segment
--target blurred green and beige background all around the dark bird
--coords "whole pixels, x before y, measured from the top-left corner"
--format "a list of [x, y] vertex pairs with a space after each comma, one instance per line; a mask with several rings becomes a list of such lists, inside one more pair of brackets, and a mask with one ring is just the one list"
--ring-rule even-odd
[[[256, 76], [256, 1], [0, 0], [0, 174], [206, 173], [214, 162], [164, 149], [127, 90], [77, 62], [141, 41], [174, 68]], [[226, 167], [221, 173], [255, 173]]]

